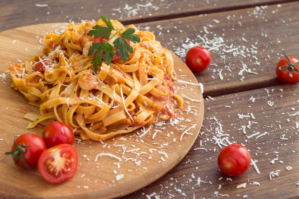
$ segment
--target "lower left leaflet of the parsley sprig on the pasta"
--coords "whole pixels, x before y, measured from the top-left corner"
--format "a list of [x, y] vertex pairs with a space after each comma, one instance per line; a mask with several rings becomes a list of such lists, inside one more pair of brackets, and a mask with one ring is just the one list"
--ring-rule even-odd
[[[96, 57], [92, 60], [93, 67], [97, 69], [97, 65], [102, 64], [102, 62], [106, 62], [107, 65], [111, 64], [111, 61], [114, 59], [114, 48], [109, 43], [94, 43], [90, 46], [90, 50], [88, 51], [88, 56], [96, 54]], [[104, 57], [102, 61], [102, 53], [104, 52]]]

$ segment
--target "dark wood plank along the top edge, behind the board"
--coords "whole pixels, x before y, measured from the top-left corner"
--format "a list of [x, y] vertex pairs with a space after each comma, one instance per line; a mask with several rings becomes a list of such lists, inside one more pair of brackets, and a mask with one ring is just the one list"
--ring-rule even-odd
[[[101, 15], [127, 24], [289, 1], [294, 0], [1, 0], [0, 31], [39, 23], [98, 20]], [[35, 6], [38, 3], [48, 6]]]

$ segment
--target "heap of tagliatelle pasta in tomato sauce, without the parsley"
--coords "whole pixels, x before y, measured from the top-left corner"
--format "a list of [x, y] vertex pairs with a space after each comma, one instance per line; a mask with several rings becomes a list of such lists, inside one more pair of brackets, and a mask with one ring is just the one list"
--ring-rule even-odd
[[[116, 29], [126, 28], [111, 20]], [[183, 100], [173, 87], [173, 59], [149, 31], [134, 28], [140, 43], [123, 62], [103, 62], [97, 69], [88, 56], [98, 22], [70, 23], [61, 35], [48, 33], [41, 55], [9, 66], [11, 87], [24, 95], [40, 115], [27, 113], [28, 128], [57, 120], [67, 123], [82, 140], [105, 140], [142, 126], [177, 117]]]

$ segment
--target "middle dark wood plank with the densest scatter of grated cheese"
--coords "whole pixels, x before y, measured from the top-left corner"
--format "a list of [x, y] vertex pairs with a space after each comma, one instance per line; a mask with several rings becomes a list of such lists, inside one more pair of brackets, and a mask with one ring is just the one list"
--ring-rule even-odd
[[[282, 49], [285, 48], [289, 56], [299, 56], [299, 46], [294, 44], [298, 38], [299, 14], [290, 12], [296, 9], [299, 9], [299, 3], [293, 2], [142, 23], [140, 26], [153, 31], [156, 39], [180, 54], [182, 60], [186, 50], [194, 44], [208, 49], [224, 45], [210, 50], [211, 65], [204, 72], [195, 74], [204, 85], [205, 96], [220, 96], [281, 84], [275, 68], [283, 57]], [[247, 73], [243, 67], [258, 74]], [[223, 80], [219, 77], [221, 70]], [[178, 79], [188, 80], [188, 77]]]

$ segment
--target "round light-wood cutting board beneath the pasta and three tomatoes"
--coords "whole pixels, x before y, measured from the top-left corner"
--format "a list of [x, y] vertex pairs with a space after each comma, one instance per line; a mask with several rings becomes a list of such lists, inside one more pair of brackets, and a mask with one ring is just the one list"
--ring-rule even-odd
[[[7, 67], [12, 63], [41, 54], [45, 45], [41, 42], [43, 35], [53, 31], [60, 33], [65, 27], [65, 23], [48, 23], [1, 32], [0, 74], [5, 71], [8, 74]], [[174, 54], [173, 59], [177, 79], [197, 83], [192, 72]], [[203, 101], [187, 99], [202, 100], [200, 88], [176, 82], [175, 86], [180, 88], [178, 95], [185, 100], [185, 110], [178, 119], [172, 120], [172, 124], [168, 124], [169, 121], [160, 126], [152, 125], [145, 135], [139, 129], [102, 143], [77, 139], [74, 146], [79, 164], [75, 177], [60, 185], [51, 185], [38, 171], [17, 168], [11, 157], [4, 155], [10, 151], [16, 134], [41, 135], [43, 128], [39, 125], [26, 129], [28, 120], [23, 116], [28, 112], [39, 114], [39, 110], [29, 105], [22, 94], [11, 89], [10, 84], [9, 74], [0, 78], [1, 199], [108, 199], [125, 196], [149, 185], [179, 163], [195, 142], [203, 121]], [[111, 153], [122, 161], [102, 156], [95, 162], [99, 153]]]

